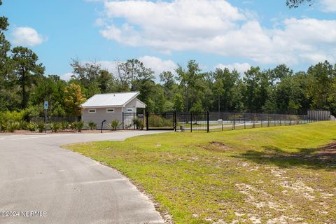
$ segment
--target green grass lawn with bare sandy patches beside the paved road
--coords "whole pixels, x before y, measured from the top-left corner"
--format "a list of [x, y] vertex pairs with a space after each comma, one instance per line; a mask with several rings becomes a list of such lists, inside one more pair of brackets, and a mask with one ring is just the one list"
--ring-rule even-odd
[[65, 146], [129, 177], [175, 223], [336, 223], [336, 123]]

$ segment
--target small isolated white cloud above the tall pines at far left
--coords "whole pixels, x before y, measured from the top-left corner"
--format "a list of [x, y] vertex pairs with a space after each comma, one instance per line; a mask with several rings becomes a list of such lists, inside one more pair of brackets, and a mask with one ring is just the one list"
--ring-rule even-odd
[[16, 27], [13, 32], [13, 43], [16, 45], [39, 45], [46, 41], [41, 34], [31, 27]]

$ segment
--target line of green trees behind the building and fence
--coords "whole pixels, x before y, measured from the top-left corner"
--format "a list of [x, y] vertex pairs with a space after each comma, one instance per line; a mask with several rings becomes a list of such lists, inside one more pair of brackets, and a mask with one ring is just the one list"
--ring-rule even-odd
[[[1, 1], [0, 1], [1, 4]], [[284, 113], [300, 109], [336, 112], [336, 64], [321, 62], [294, 72], [286, 64], [274, 69], [252, 66], [244, 74], [233, 69], [204, 72], [195, 60], [186, 67], [155, 73], [138, 59], [116, 63], [111, 73], [98, 63], [73, 59], [69, 81], [45, 75], [45, 67], [31, 49], [11, 48], [0, 18], [0, 111], [25, 111], [27, 118], [79, 116], [80, 104], [97, 93], [139, 91], [147, 111], [239, 111]]]

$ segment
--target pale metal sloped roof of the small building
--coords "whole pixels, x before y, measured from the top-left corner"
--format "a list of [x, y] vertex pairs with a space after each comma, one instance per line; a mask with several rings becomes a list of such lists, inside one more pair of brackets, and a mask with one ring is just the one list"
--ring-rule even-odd
[[132, 99], [137, 97], [139, 92], [115, 92], [108, 94], [95, 94], [87, 102], [82, 104], [87, 107], [109, 107], [109, 106], [125, 106]]

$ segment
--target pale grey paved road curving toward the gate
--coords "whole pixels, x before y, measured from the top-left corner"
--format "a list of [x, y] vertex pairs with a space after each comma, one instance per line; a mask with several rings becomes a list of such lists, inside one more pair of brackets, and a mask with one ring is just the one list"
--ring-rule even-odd
[[59, 148], [153, 133], [0, 135], [0, 223], [164, 223], [125, 176]]

